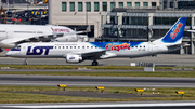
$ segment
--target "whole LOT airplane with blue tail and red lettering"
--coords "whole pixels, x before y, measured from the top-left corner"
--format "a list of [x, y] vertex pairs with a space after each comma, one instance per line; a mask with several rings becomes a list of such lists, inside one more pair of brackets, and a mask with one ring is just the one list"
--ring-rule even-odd
[[[153, 42], [37, 42], [22, 43], [6, 53], [21, 58], [66, 58], [66, 63], [81, 63], [114, 57], [142, 57], [179, 50], [186, 17], [179, 18], [169, 31]], [[24, 65], [27, 65], [26, 60]]]

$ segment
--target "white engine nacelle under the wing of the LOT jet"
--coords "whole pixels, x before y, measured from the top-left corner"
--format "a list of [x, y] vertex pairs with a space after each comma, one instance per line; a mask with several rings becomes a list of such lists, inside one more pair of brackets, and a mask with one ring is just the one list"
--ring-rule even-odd
[[66, 55], [66, 63], [80, 63], [82, 60], [82, 57], [79, 55]]

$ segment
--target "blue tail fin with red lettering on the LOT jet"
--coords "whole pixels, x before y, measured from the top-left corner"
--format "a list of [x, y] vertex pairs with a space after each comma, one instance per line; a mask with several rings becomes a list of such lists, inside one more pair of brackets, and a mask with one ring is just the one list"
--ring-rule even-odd
[[162, 41], [164, 43], [181, 43], [185, 29], [186, 17], [180, 17], [177, 23], [169, 29], [164, 38], [154, 42]]

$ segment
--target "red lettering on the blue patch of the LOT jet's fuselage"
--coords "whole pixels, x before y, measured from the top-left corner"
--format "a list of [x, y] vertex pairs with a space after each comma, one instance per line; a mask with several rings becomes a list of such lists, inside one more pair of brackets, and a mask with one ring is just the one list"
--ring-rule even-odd
[[[109, 47], [109, 45], [112, 45], [110, 43], [107, 44], [105, 46], [105, 50], [107, 50]], [[130, 43], [127, 44], [127, 43], [122, 43], [122, 44], [119, 44], [119, 45], [112, 45], [112, 51], [120, 51], [120, 50], [130, 50]]]

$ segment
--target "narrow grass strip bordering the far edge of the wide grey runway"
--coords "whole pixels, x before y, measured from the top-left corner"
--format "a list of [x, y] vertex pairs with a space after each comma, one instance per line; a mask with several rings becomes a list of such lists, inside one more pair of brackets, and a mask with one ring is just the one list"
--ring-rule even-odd
[[180, 77], [195, 78], [195, 71], [0, 71], [0, 74], [42, 74], [42, 76], [105, 76], [105, 77]]

